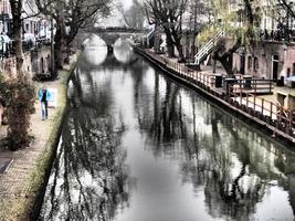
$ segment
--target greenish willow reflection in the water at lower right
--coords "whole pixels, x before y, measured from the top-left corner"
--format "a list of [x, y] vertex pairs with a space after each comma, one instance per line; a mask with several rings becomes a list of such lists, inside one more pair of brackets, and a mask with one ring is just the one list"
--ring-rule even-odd
[[281, 154], [274, 155], [267, 147], [270, 140], [262, 144], [263, 138], [240, 120], [220, 115], [208, 103], [197, 104], [207, 106], [211, 134], [203, 134], [202, 125], [193, 124], [196, 155], [182, 164], [185, 180], [191, 181], [196, 189], [204, 186], [206, 203], [212, 217], [251, 220], [256, 204], [272, 186], [270, 182], [285, 180], [274, 165], [274, 159], [282, 158], [282, 151], [276, 147]]

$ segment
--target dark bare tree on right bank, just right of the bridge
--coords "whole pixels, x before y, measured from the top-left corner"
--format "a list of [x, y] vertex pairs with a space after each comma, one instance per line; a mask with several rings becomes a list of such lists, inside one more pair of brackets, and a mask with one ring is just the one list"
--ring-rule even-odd
[[168, 55], [173, 56], [177, 48], [180, 60], [183, 60], [181, 48], [182, 15], [188, 0], [146, 0], [145, 10], [149, 24], [159, 25], [167, 36]]

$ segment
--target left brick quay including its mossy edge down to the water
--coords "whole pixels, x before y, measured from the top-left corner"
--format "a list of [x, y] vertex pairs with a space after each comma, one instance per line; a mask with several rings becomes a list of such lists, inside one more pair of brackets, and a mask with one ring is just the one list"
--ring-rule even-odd
[[[62, 125], [66, 112], [66, 91], [78, 53], [71, 65], [60, 72], [59, 80], [46, 82], [46, 86], [57, 90], [57, 106], [49, 109], [49, 119], [41, 120], [41, 106], [31, 116], [31, 133], [34, 139], [30, 147], [18, 151], [0, 149], [0, 156], [13, 161], [0, 176], [0, 220], [38, 220], [51, 167], [57, 149]], [[36, 83], [38, 87], [42, 83]], [[4, 129], [4, 128], [2, 128]]]

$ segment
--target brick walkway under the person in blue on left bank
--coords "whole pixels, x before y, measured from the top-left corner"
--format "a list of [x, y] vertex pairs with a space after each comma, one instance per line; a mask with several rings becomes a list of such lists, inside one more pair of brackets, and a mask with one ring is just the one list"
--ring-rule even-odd
[[[76, 56], [72, 57], [72, 63]], [[0, 220], [23, 220], [27, 215], [28, 204], [32, 206], [34, 196], [33, 185], [39, 185], [42, 180], [40, 168], [42, 159], [51, 152], [50, 145], [56, 135], [56, 127], [65, 107], [65, 87], [70, 76], [70, 65], [65, 66], [66, 71], [60, 73], [59, 80], [45, 82], [48, 88], [57, 88], [57, 106], [49, 109], [49, 119], [41, 120], [41, 107], [35, 102], [36, 112], [31, 116], [31, 134], [33, 141], [30, 147], [18, 151], [10, 151], [0, 147], [0, 166], [11, 159], [9, 168], [0, 175]], [[36, 88], [42, 86], [36, 83]], [[0, 135], [6, 135], [7, 127], [2, 126]], [[44, 172], [44, 171], [43, 171]], [[23, 213], [24, 212], [24, 213]], [[21, 215], [21, 217], [20, 217]]]

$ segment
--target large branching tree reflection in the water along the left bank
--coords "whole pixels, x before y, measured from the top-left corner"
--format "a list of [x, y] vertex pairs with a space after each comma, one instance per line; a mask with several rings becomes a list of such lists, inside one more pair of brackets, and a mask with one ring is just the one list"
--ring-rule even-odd
[[81, 76], [72, 80], [73, 107], [44, 198], [44, 220], [112, 220], [118, 208], [128, 206], [131, 180], [126, 151], [119, 147], [124, 125], [119, 114], [109, 113], [110, 83], [98, 86], [88, 74], [83, 76], [88, 85], [84, 90]]

